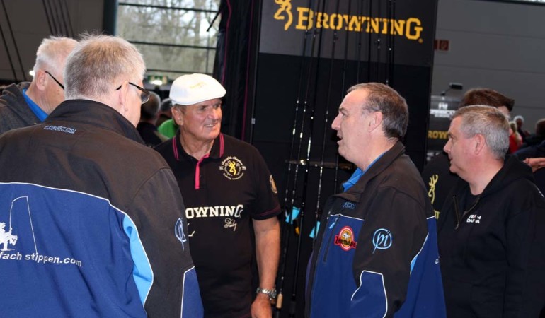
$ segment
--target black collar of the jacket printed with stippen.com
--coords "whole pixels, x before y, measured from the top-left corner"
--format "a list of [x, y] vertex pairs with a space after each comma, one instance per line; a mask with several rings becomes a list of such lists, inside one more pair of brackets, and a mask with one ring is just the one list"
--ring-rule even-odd
[[62, 120], [79, 122], [115, 131], [129, 139], [144, 143], [136, 127], [117, 110], [93, 100], [65, 100], [44, 121], [45, 124]]

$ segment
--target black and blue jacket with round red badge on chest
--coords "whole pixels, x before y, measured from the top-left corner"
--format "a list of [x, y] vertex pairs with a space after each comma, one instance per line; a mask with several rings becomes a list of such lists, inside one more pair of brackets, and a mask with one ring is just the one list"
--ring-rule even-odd
[[306, 317], [445, 317], [435, 217], [398, 142], [328, 199]]

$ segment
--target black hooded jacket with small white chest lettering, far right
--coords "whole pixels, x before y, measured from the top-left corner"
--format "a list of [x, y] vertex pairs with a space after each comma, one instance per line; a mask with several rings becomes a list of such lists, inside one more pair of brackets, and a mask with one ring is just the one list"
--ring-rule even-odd
[[545, 303], [545, 200], [532, 171], [508, 156], [481, 195], [469, 194], [460, 179], [438, 222], [447, 316], [538, 317]]

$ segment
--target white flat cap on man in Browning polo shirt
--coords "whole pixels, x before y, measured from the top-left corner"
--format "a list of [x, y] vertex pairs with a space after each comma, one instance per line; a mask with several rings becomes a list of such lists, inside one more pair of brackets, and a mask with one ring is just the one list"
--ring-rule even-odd
[[193, 105], [205, 100], [222, 98], [226, 90], [215, 78], [206, 74], [189, 74], [176, 78], [168, 96], [173, 104]]

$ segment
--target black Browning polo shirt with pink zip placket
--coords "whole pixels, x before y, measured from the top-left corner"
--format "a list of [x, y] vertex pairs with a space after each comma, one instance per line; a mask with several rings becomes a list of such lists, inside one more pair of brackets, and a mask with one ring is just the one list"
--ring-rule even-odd
[[[185, 153], [180, 132], [156, 147], [180, 186], [188, 220], [191, 256], [206, 317], [250, 313], [251, 219], [280, 213], [265, 160], [249, 143], [219, 134], [201, 160]], [[249, 317], [249, 316], [248, 316]]]

